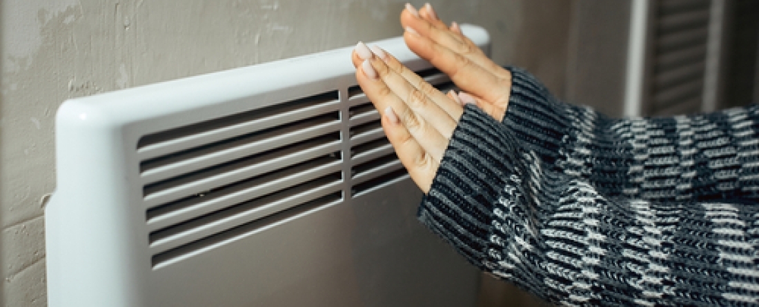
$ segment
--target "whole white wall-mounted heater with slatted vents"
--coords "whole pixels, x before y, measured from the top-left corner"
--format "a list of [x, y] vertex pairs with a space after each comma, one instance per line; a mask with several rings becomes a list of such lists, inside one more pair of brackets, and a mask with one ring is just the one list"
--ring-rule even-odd
[[479, 274], [417, 222], [351, 50], [64, 102], [49, 305], [474, 305]]

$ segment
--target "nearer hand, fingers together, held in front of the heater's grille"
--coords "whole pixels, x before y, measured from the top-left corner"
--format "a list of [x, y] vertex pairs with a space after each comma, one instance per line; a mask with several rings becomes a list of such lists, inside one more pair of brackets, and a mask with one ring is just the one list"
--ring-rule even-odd
[[458, 97], [443, 94], [382, 49], [359, 42], [354, 49], [356, 80], [374, 107], [411, 179], [424, 192], [446, 152], [458, 118]]

